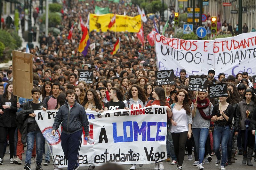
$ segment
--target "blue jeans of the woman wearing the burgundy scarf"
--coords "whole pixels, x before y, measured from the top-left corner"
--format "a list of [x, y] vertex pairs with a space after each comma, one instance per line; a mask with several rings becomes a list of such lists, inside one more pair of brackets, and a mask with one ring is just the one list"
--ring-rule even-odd
[[199, 164], [201, 164], [203, 163], [203, 160], [204, 160], [205, 143], [209, 134], [209, 129], [193, 128], [192, 132], [195, 140], [196, 152], [198, 153], [198, 161], [199, 161]]

